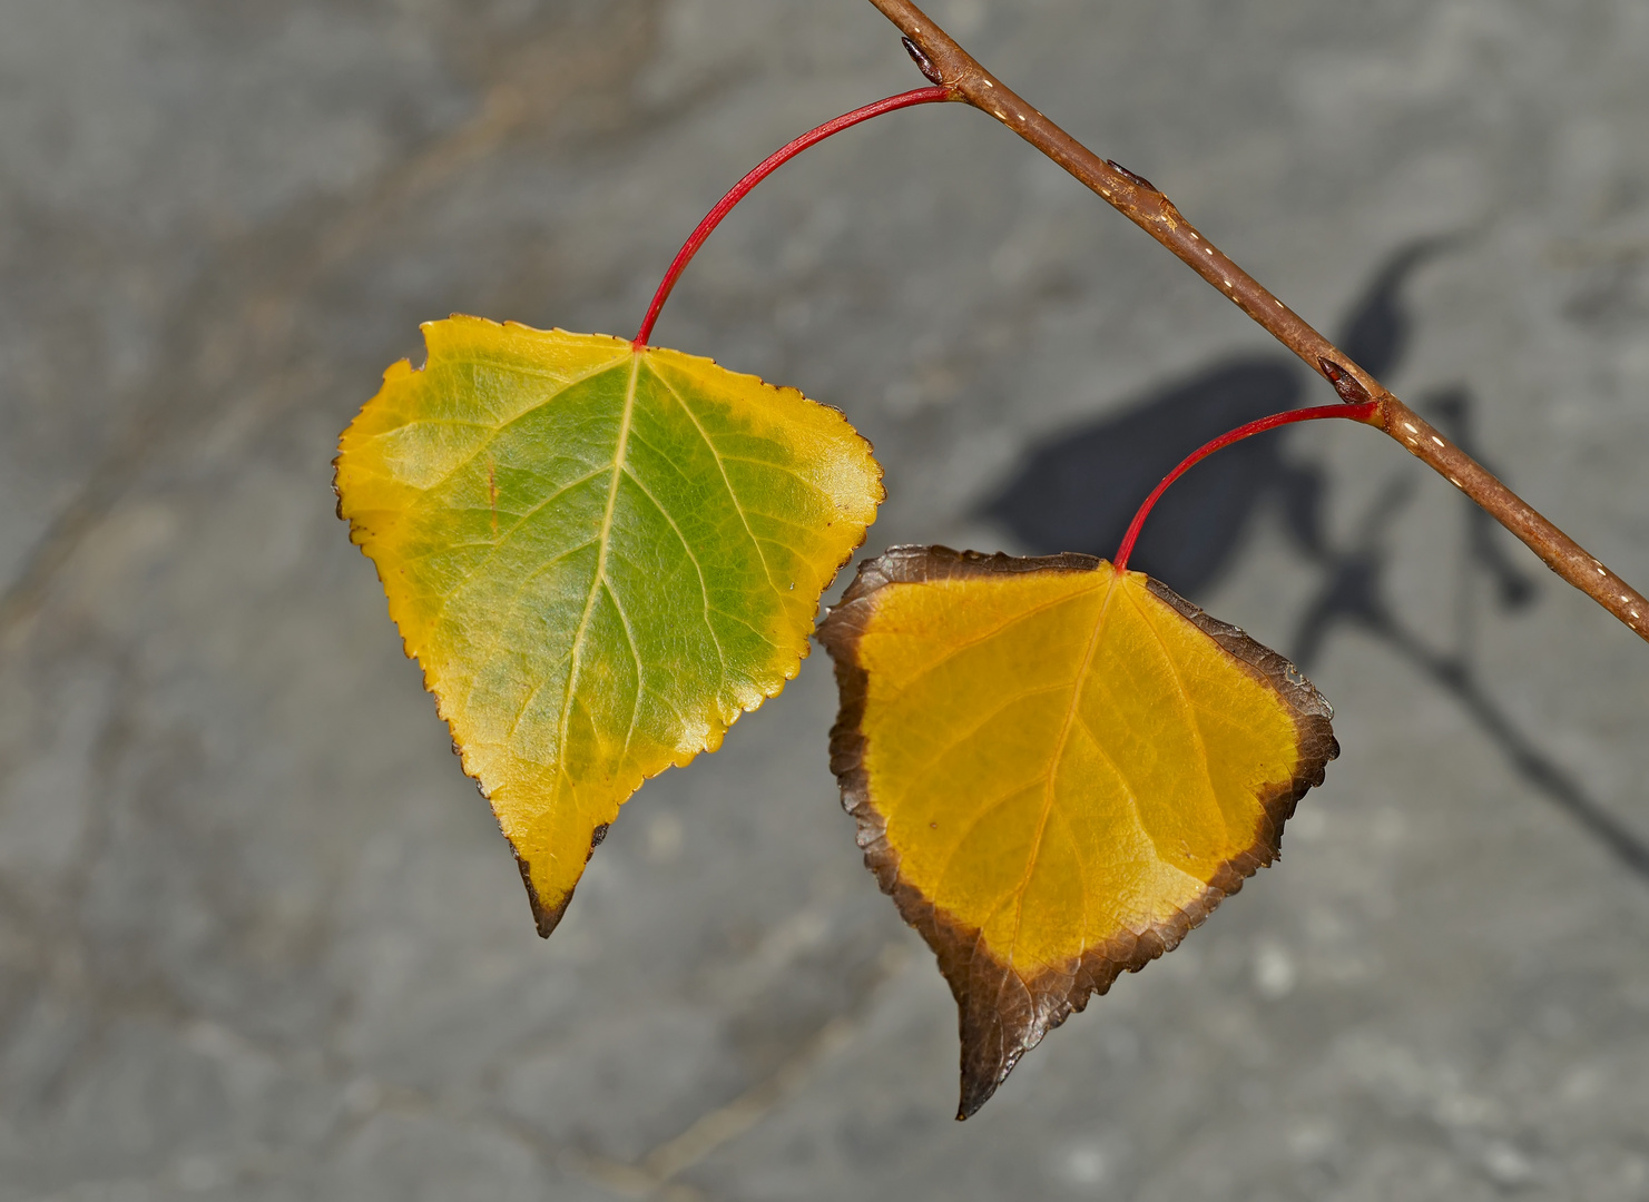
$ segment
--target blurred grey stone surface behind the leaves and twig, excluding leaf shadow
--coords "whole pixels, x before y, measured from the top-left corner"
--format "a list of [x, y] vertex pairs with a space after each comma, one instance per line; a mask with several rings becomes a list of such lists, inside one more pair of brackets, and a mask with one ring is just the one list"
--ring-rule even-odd
[[[1387, 383], [1649, 582], [1649, 5], [935, 15], [1329, 331], [1458, 234]], [[1261, 496], [1192, 590], [1314, 640], [1344, 757], [976, 1120], [823, 656], [534, 935], [336, 434], [420, 320], [630, 333], [747, 167], [918, 84], [862, 0], [0, 0], [3, 1202], [1649, 1199], [1649, 648], [1349, 425], [1276, 444], [1324, 546]], [[980, 516], [1037, 445], [1278, 359], [960, 107], [788, 167], [658, 336], [859, 424], [871, 551], [1042, 549]]]

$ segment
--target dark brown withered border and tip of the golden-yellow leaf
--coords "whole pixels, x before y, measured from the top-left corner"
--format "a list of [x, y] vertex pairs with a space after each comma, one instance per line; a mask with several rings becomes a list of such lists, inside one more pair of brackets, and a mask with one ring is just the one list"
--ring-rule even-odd
[[876, 808], [864, 768], [867, 739], [861, 725], [869, 676], [857, 661], [859, 636], [874, 615], [876, 594], [890, 584], [1092, 572], [1102, 562], [1105, 561], [1075, 552], [1017, 557], [940, 546], [892, 547], [859, 564], [853, 585], [820, 623], [818, 640], [836, 663], [836, 686], [841, 691], [841, 711], [831, 729], [829, 752], [831, 772], [841, 783], [843, 808], [857, 823], [866, 867], [876, 874], [882, 892], [894, 899], [900, 917], [933, 948], [940, 973], [956, 998], [961, 1031], [958, 1120], [976, 1115], [1008, 1080], [1019, 1059], [1072, 1012], [1083, 1009], [1090, 996], [1110, 989], [1120, 973], [1138, 973], [1164, 951], [1172, 951], [1225, 897], [1242, 889], [1247, 877], [1275, 861], [1281, 854], [1283, 824], [1293, 816], [1299, 798], [1322, 783], [1326, 763], [1339, 755], [1331, 727], [1334, 711], [1294, 664], [1237, 627], [1209, 617], [1158, 580], [1149, 580], [1148, 587], [1158, 599], [1174, 607], [1255, 679], [1283, 697], [1294, 712], [1299, 765], [1293, 780], [1260, 798], [1266, 823], [1255, 846], [1220, 864], [1202, 895], [1171, 922], [1121, 935], [1090, 948], [1064, 968], [1044, 970], [1029, 979], [991, 956], [978, 928], [938, 909], [899, 877], [899, 852], [887, 841], [887, 819]]

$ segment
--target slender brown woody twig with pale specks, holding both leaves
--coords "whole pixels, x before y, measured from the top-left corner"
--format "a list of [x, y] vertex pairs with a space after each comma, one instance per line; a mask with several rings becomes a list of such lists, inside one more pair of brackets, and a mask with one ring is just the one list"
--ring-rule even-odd
[[[1118, 213], [1172, 251], [1191, 270], [1230, 297], [1232, 303], [1304, 359], [1306, 366], [1331, 383], [1337, 381], [1342, 397], [1367, 397], [1379, 402], [1370, 425], [1397, 439], [1412, 455], [1520, 538], [1547, 567], [1649, 641], [1649, 600], [1586, 554], [1575, 539], [1540, 516], [1494, 473], [1448, 442], [1413, 409], [1382, 387], [1380, 381], [1357, 366], [1346, 351], [1266, 292], [1258, 280], [1199, 234], [1149, 180], [1100, 158], [1019, 99], [910, 0], [871, 0], [871, 3], [914, 43], [912, 58], [928, 79], [950, 87], [960, 99], [999, 120], [1098, 193]], [[1349, 379], [1341, 378], [1341, 371]]]

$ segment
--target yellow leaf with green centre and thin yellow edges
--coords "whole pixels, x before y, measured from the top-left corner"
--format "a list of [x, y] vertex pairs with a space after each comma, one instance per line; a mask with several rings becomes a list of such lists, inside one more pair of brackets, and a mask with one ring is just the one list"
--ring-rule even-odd
[[796, 674], [881, 468], [834, 409], [709, 359], [473, 317], [424, 338], [343, 432], [338, 514], [549, 935], [641, 782]]

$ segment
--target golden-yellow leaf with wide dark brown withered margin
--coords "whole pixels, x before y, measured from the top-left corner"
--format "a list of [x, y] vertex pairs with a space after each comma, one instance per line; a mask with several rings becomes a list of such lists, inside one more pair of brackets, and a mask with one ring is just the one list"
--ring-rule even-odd
[[859, 846], [961, 1011], [961, 1108], [1278, 856], [1339, 754], [1293, 664], [1088, 556], [895, 547], [820, 627]]

